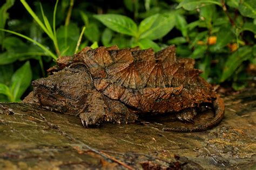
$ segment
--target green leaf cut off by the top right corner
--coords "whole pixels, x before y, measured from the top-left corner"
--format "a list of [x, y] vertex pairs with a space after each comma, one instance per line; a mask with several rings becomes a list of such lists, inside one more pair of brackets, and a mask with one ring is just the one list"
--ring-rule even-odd
[[242, 0], [238, 7], [242, 16], [256, 18], [256, 1]]

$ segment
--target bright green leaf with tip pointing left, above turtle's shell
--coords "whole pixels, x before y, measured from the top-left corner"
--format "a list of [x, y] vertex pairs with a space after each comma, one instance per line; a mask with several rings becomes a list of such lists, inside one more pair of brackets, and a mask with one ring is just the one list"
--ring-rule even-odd
[[118, 14], [102, 14], [94, 15], [93, 17], [113, 31], [133, 37], [137, 36], [137, 25], [129, 17]]

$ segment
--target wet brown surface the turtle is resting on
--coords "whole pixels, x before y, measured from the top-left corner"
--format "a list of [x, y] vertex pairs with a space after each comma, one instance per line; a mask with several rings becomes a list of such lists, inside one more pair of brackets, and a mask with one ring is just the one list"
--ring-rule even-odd
[[[79, 117], [31, 104], [0, 103], [0, 169], [254, 169], [256, 90], [224, 100], [223, 121], [194, 133], [162, 131], [193, 126], [171, 116], [85, 129]], [[212, 118], [213, 113], [205, 112], [195, 122]]]

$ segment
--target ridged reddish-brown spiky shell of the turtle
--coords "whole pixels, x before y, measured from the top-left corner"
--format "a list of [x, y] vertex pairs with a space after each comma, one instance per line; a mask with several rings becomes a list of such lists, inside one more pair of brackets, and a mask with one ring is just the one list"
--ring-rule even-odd
[[86, 48], [66, 65], [84, 62], [98, 91], [141, 113], [177, 112], [212, 103], [215, 93], [199, 76], [201, 70], [193, 68], [194, 60], [176, 58], [175, 51], [173, 45], [156, 53], [152, 48]]

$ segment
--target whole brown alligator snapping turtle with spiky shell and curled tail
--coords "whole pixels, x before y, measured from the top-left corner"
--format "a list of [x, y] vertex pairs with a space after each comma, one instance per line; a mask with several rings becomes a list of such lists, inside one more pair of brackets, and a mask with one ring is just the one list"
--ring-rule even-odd
[[152, 48], [84, 48], [63, 56], [49, 77], [33, 81], [24, 102], [79, 115], [84, 126], [102, 122], [134, 122], [139, 115], [176, 114], [192, 122], [201, 104], [212, 103], [215, 117], [194, 128], [164, 128], [194, 132], [212, 128], [224, 116], [223, 100], [194, 69], [193, 59], [177, 59], [175, 47], [154, 53]]

